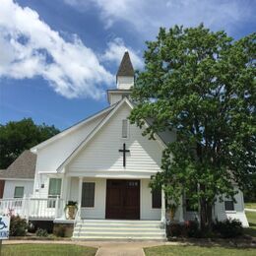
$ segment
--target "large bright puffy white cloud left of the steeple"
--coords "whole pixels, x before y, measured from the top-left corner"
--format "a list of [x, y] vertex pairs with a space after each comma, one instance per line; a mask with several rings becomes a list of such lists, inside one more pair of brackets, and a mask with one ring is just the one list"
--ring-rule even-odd
[[12, 0], [1, 0], [0, 49], [0, 77], [41, 76], [61, 96], [98, 99], [102, 87], [114, 83], [96, 53], [78, 36], [64, 40], [35, 11]]

